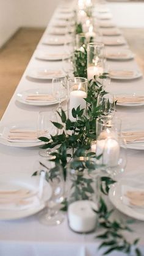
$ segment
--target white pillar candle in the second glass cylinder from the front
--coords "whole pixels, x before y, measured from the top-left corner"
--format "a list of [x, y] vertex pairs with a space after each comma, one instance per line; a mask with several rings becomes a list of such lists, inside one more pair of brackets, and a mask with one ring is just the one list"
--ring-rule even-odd
[[106, 166], [117, 166], [118, 158], [120, 155], [120, 144], [118, 141], [112, 138], [101, 139], [96, 142], [96, 155], [101, 156], [99, 159], [100, 164], [104, 164]]

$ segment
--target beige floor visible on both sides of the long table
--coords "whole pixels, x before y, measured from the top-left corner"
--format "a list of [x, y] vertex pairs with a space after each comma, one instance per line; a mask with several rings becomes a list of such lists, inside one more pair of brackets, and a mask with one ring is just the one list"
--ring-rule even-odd
[[[0, 50], [0, 119], [9, 104], [44, 29], [20, 29]], [[144, 29], [123, 29], [144, 73]]]

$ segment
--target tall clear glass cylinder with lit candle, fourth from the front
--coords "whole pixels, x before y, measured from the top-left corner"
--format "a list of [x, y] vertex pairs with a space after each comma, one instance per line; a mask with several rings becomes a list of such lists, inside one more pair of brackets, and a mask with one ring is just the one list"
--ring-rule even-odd
[[104, 71], [104, 44], [88, 43], [87, 45], [87, 78], [103, 74]]

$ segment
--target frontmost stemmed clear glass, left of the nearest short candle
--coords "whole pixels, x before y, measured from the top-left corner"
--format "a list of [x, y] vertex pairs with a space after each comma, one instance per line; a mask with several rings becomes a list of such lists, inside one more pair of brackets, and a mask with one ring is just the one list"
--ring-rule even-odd
[[39, 214], [39, 221], [45, 225], [59, 225], [64, 216], [60, 212], [61, 203], [65, 196], [65, 183], [63, 179], [62, 167], [54, 162], [48, 161], [47, 171], [43, 178], [43, 200], [45, 201], [45, 191], [49, 193], [49, 199], [46, 200], [46, 208]]

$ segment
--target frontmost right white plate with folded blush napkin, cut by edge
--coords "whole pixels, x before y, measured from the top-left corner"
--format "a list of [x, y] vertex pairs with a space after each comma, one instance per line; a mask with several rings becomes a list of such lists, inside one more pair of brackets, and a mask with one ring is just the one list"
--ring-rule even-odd
[[144, 221], [144, 189], [142, 177], [125, 177], [110, 186], [109, 199], [112, 205], [127, 216]]

